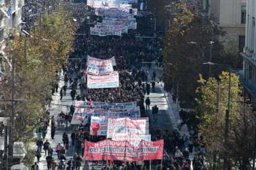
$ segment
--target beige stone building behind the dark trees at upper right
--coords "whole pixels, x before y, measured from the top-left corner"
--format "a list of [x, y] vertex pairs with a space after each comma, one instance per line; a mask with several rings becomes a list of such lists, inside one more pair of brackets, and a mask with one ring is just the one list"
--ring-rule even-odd
[[242, 52], [245, 41], [246, 0], [204, 0], [204, 4], [207, 15], [226, 32], [222, 40], [226, 45], [235, 45], [237, 52]]

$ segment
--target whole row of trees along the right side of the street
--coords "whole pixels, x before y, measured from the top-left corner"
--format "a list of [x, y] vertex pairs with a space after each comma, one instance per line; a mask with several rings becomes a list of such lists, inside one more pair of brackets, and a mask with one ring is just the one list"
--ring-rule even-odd
[[164, 38], [165, 89], [190, 109], [186, 124], [202, 135], [211, 167], [253, 169], [255, 112], [232, 73], [241, 64], [239, 54], [224, 48], [219, 39], [225, 32], [200, 6], [172, 3], [168, 8], [172, 19]]

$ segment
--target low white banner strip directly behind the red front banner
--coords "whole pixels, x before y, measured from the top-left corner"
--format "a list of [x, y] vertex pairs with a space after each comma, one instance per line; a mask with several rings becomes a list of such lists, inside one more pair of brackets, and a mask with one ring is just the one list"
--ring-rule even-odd
[[134, 133], [114, 133], [113, 141], [125, 141], [127, 140], [132, 146], [138, 146], [140, 142], [151, 141], [150, 134], [134, 134]]

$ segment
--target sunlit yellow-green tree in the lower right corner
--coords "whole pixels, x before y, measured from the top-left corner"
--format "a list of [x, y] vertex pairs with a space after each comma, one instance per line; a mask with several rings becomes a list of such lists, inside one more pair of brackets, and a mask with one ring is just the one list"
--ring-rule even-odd
[[227, 72], [221, 73], [218, 79], [209, 78], [207, 81], [200, 76], [198, 80], [200, 87], [196, 90], [196, 112], [200, 119], [198, 128], [203, 136], [202, 143], [211, 153], [218, 151], [221, 159], [227, 153], [232, 167], [249, 169], [248, 167], [250, 167], [250, 161], [252, 160], [256, 119], [250, 106], [235, 102], [243, 102], [244, 100], [241, 97], [242, 91], [239, 77], [236, 74], [231, 74], [230, 126], [228, 129], [228, 146], [225, 145], [228, 81], [229, 75]]

